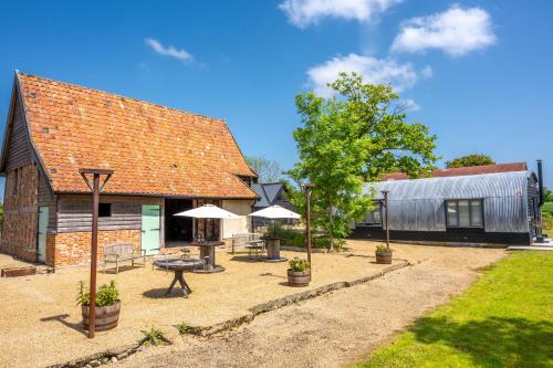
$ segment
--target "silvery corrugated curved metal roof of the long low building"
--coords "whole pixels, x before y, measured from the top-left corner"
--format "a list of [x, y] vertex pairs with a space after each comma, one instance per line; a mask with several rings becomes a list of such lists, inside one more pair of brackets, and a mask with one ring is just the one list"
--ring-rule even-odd
[[482, 199], [484, 230], [528, 232], [528, 179], [533, 174], [513, 171], [463, 177], [393, 180], [369, 183], [382, 199], [389, 191], [389, 228], [405, 231], [446, 231], [447, 199]]

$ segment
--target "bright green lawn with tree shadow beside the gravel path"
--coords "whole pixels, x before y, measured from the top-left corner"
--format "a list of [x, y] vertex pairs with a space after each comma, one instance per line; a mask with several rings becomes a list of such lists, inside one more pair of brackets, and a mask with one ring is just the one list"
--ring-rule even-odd
[[356, 367], [553, 367], [553, 253], [513, 253]]

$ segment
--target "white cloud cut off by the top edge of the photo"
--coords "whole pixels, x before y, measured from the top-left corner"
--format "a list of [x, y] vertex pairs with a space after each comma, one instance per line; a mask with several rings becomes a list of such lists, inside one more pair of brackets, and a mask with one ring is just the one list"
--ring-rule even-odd
[[279, 8], [300, 28], [324, 18], [368, 21], [403, 0], [284, 0]]

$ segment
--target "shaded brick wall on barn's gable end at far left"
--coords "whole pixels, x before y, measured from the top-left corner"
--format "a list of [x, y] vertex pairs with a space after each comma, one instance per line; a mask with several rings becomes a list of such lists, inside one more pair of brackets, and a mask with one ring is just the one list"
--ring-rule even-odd
[[4, 215], [0, 249], [23, 260], [36, 261], [39, 225], [39, 170], [22, 166], [6, 175]]

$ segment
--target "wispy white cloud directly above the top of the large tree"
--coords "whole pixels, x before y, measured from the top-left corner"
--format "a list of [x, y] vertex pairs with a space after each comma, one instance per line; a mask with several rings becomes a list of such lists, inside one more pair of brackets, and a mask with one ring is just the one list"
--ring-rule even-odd
[[352, 53], [346, 56], [332, 57], [311, 67], [307, 71], [309, 83], [319, 96], [332, 96], [333, 91], [327, 84], [334, 82], [341, 72], [355, 72], [362, 75], [365, 82], [373, 84], [392, 84], [398, 92], [431, 75], [429, 66], [417, 72], [410, 63], [401, 64], [393, 59], [376, 59]]

